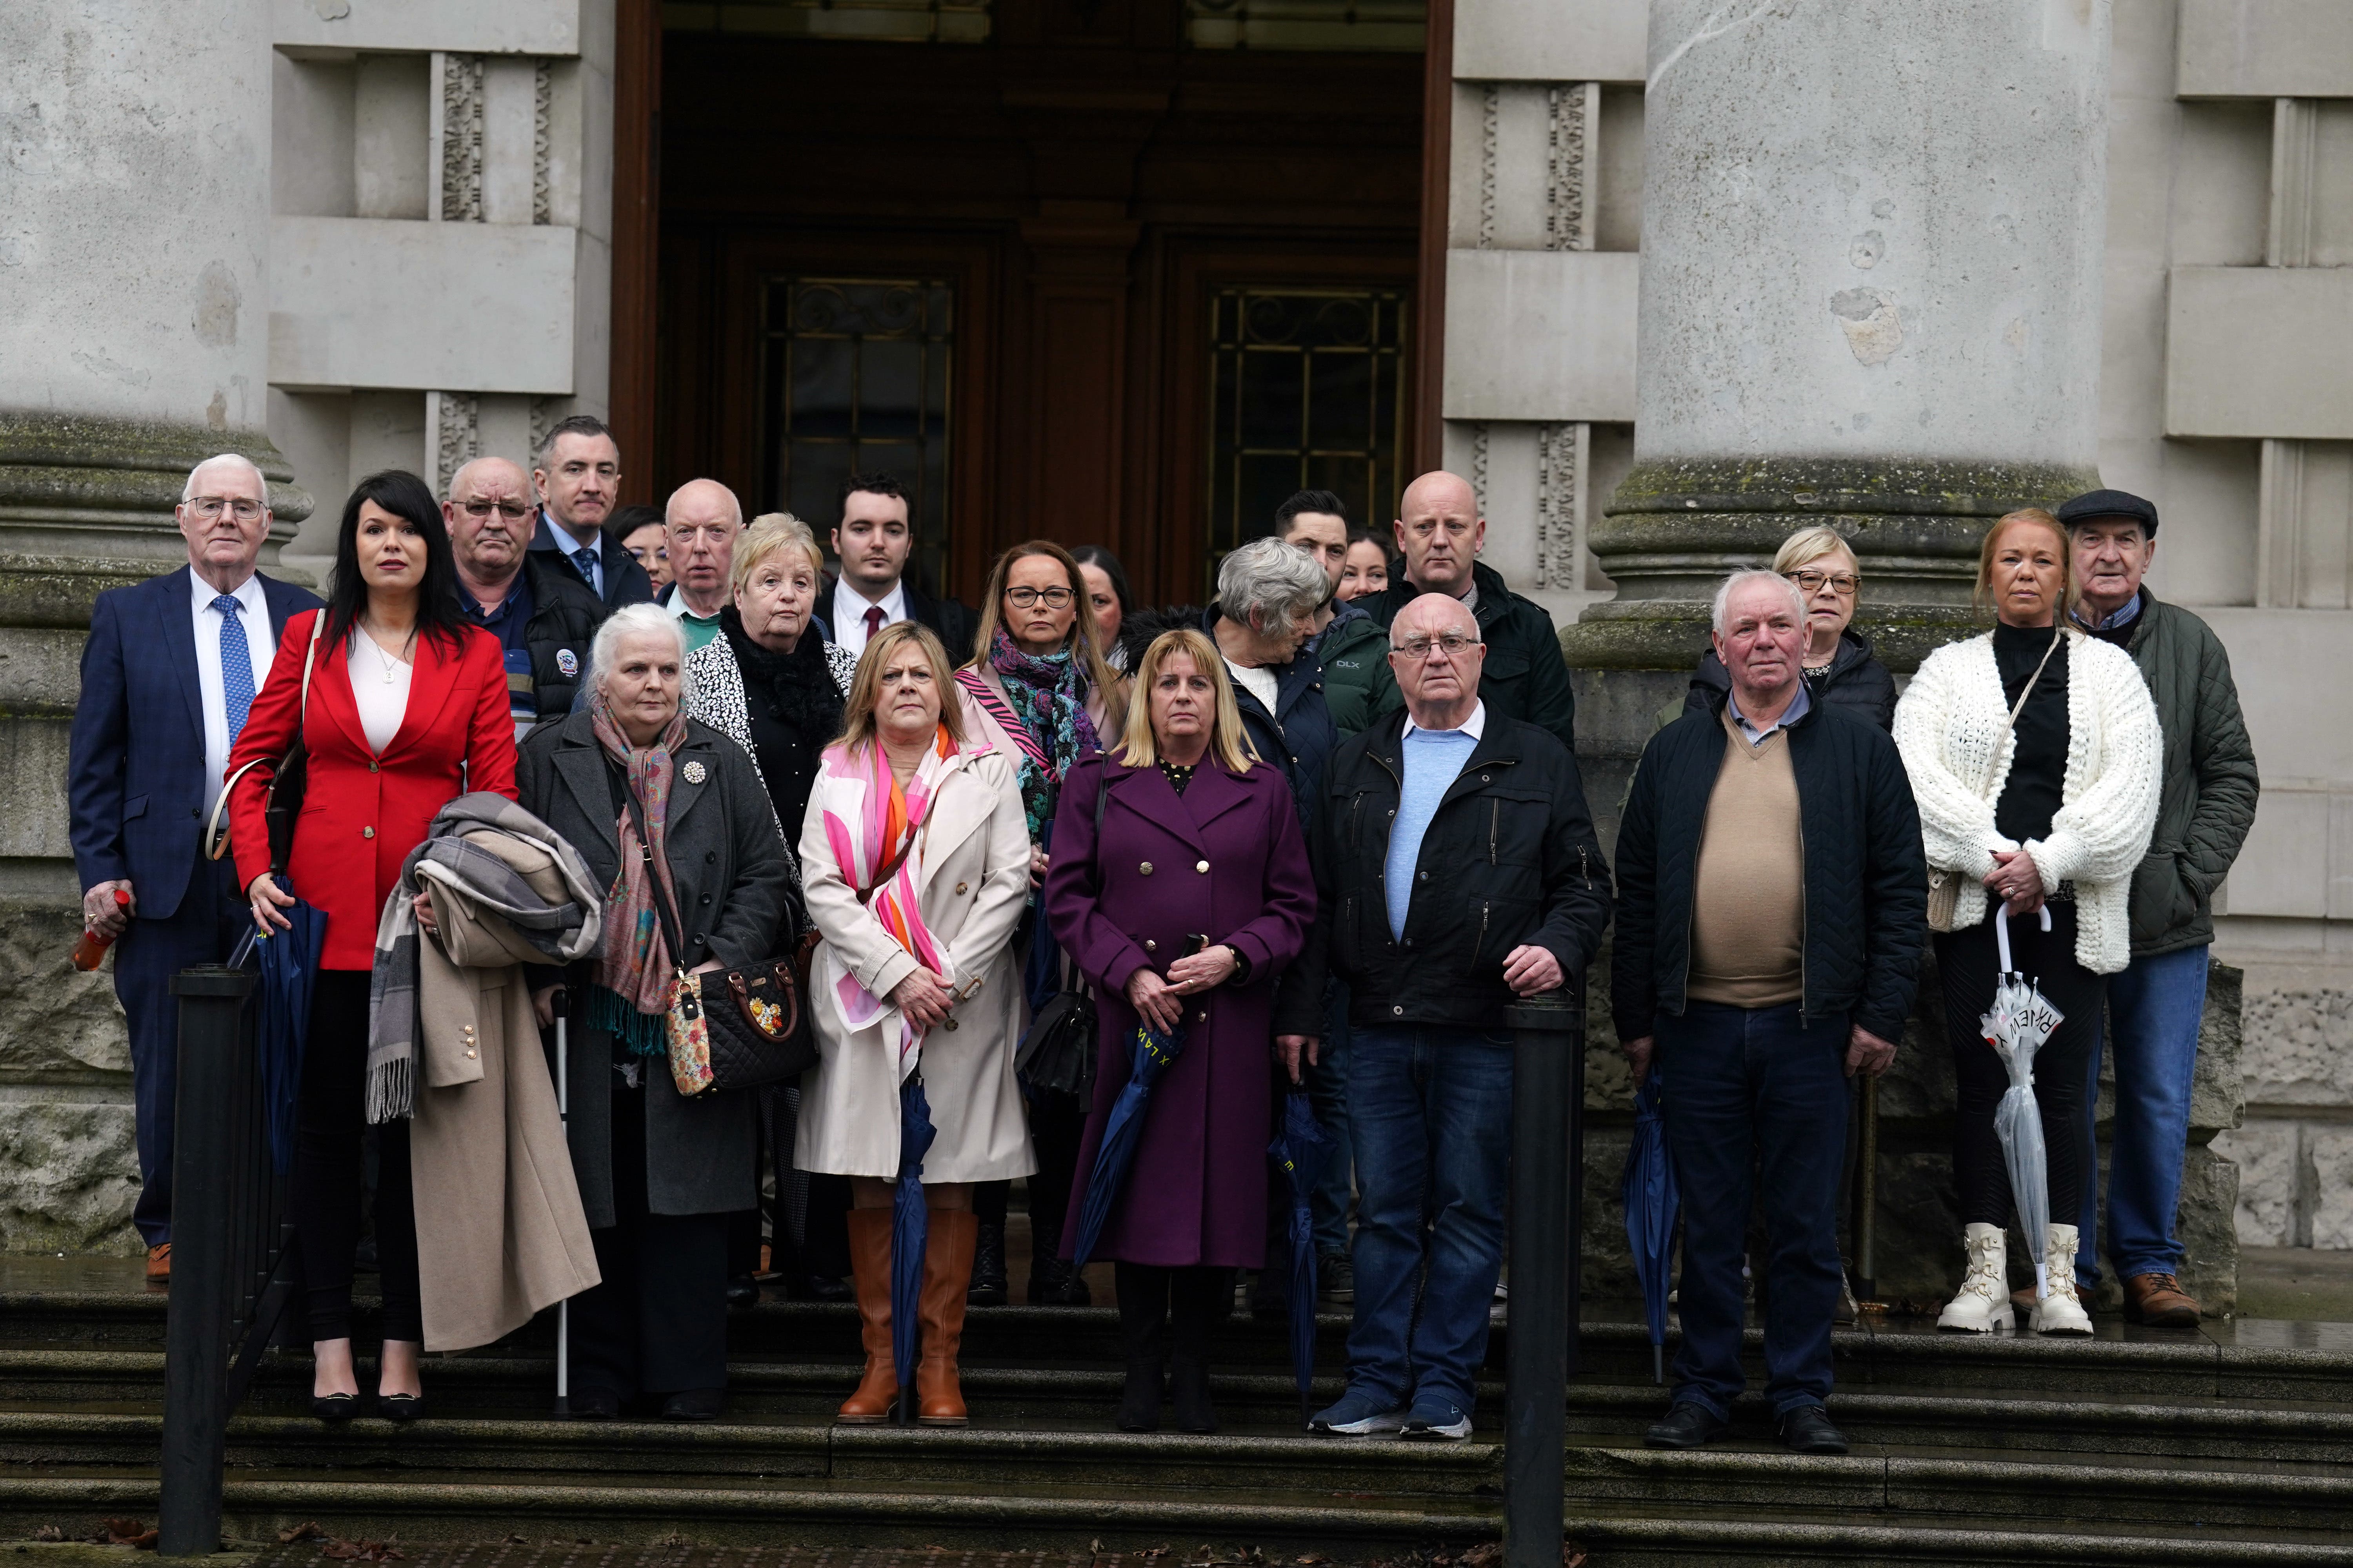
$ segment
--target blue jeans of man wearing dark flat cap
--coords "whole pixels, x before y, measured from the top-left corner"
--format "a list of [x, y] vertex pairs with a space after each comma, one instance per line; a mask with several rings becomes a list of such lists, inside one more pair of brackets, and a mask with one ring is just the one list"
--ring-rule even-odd
[[[2207, 950], [2184, 947], [2108, 976], [2108, 1051], [2115, 1058], [2115, 1138], [2108, 1150], [2108, 1262], [2120, 1279], [2181, 1267], [2174, 1204], [2191, 1135], [2191, 1079], [2205, 1018]], [[2085, 1077], [2085, 1105], [2099, 1098], [2099, 1048]], [[2092, 1117], [2082, 1119], [2082, 1215], [2075, 1279], [2099, 1284], [2092, 1173], [2099, 1171]], [[2057, 1215], [2054, 1215], [2057, 1218]]]

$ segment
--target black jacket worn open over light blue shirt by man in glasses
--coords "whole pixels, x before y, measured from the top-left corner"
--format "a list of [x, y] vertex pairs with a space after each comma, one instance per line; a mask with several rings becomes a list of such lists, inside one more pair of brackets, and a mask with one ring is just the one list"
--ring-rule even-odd
[[1388, 827], [1405, 790], [1405, 710], [1346, 741], [1325, 773], [1315, 931], [1275, 999], [1278, 1034], [1322, 1034], [1322, 987], [1348, 983], [1355, 1027], [1501, 1027], [1504, 954], [1546, 947], [1567, 976], [1609, 926], [1609, 863], [1577, 759], [1534, 724], [1487, 710], [1478, 750], [1421, 839], [1405, 940], [1388, 933]]

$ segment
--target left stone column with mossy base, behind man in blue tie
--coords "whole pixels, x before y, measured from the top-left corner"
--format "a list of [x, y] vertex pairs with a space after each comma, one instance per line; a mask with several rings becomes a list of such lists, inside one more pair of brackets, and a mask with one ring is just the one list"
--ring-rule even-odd
[[[132, 1251], [129, 1058], [75, 976], [66, 726], [89, 604], [186, 559], [193, 463], [261, 433], [268, 7], [0, 7], [0, 1251]], [[266, 552], [275, 557], [275, 543]]]

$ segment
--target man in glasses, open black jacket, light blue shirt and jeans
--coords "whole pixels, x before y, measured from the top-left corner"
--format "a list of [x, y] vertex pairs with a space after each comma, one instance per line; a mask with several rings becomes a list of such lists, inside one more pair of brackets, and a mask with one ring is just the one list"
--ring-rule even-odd
[[1311, 1429], [1464, 1439], [1504, 1262], [1504, 1009], [1593, 961], [1609, 867], [1577, 759], [1480, 701], [1471, 611], [1426, 595], [1388, 644], [1405, 712], [1332, 759], [1315, 931], [1275, 1004], [1275, 1044], [1297, 1067], [1318, 1048], [1327, 966], [1351, 990], [1355, 1324], [1348, 1392]]

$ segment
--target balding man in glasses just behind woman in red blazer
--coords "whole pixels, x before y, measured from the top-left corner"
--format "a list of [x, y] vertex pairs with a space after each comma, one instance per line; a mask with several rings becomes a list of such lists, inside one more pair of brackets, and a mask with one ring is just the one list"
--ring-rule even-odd
[[609, 614], [595, 590], [548, 550], [529, 548], [532, 503], [522, 468], [475, 458], [449, 475], [442, 501], [459, 604], [506, 651], [515, 738], [572, 712], [588, 644]]

